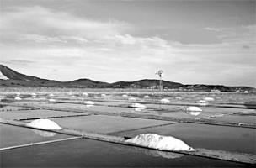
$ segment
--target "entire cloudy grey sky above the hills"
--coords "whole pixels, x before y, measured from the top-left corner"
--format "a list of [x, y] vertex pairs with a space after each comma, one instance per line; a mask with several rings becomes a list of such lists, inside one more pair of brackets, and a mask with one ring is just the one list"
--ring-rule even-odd
[[256, 1], [1, 0], [0, 64], [59, 81], [256, 87]]

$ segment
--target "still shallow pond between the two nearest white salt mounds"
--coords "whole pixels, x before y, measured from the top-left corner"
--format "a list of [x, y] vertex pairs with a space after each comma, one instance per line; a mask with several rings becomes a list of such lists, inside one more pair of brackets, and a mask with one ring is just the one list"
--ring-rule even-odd
[[160, 124], [174, 123], [154, 119], [123, 118], [120, 116], [90, 115], [69, 118], [51, 118], [62, 128], [78, 129], [94, 133], [111, 133]]

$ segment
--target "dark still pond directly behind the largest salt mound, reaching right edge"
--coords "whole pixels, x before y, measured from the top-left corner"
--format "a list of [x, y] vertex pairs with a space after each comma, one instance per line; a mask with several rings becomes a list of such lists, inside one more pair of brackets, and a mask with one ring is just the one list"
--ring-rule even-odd
[[115, 135], [134, 137], [137, 134], [162, 134], [185, 140], [193, 148], [227, 150], [256, 154], [256, 130], [197, 123], [174, 123], [148, 129], [123, 131]]

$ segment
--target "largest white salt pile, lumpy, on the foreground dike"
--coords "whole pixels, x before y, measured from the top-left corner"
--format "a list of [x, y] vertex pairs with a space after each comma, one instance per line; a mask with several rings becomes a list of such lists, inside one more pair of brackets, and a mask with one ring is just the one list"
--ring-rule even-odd
[[157, 150], [195, 151], [182, 140], [176, 139], [172, 136], [163, 136], [158, 134], [139, 134], [136, 137], [127, 139], [125, 141], [131, 144], [138, 144]]

